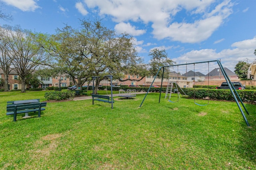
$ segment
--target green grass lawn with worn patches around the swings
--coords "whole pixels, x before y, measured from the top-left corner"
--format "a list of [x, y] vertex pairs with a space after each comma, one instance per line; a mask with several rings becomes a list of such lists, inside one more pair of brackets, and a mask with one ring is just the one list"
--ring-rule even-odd
[[7, 101], [44, 101], [44, 93], [0, 93], [0, 169], [256, 169], [255, 105], [245, 104], [252, 128], [235, 102], [162, 95], [159, 104], [158, 93], [141, 108], [145, 94], [115, 97], [114, 109], [81, 100], [47, 103], [40, 118], [6, 116]]

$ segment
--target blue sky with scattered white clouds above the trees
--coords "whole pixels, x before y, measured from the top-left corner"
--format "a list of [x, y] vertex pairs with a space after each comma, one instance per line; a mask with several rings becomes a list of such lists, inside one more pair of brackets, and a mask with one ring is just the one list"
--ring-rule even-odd
[[[2, 12], [12, 21], [36, 32], [56, 33], [80, 20], [101, 20], [117, 34], [134, 37], [144, 63], [150, 50], [165, 49], [176, 64], [220, 60], [234, 72], [238, 61], [256, 59], [256, 0], [0, 0]], [[210, 71], [218, 67], [211, 62]], [[176, 70], [177, 69], [177, 70]], [[179, 69], [179, 70], [178, 70]], [[208, 73], [208, 63], [175, 67]]]

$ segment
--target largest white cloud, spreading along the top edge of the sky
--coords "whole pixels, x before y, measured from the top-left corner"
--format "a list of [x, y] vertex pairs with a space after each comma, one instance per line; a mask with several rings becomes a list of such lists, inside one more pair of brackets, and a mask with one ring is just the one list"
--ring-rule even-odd
[[[118, 31], [129, 28], [134, 35], [140, 35], [144, 30], [138, 31], [129, 24], [150, 23], [156, 39], [167, 38], [183, 43], [199, 43], [208, 39], [232, 14], [233, 6], [230, 0], [84, 0], [84, 3], [99, 15], [110, 16], [120, 23], [116, 25]], [[181, 10], [191, 14], [190, 22], [175, 20]], [[200, 15], [192, 18], [196, 14]]]

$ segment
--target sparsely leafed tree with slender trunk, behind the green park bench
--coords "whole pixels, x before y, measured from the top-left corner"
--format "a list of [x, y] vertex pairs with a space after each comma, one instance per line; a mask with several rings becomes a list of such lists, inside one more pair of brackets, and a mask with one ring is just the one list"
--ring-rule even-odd
[[30, 78], [29, 75], [47, 59], [44, 51], [35, 41], [37, 34], [22, 29], [20, 26], [9, 27], [9, 30], [8, 46], [12, 54], [12, 66], [21, 80], [21, 92], [26, 92], [26, 80]]

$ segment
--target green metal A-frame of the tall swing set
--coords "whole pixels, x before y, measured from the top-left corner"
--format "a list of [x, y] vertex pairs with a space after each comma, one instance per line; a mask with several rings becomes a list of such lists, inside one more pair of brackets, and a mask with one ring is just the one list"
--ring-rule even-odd
[[[158, 72], [156, 73], [156, 76], [154, 76], [154, 80], [153, 80], [152, 83], [151, 83], [151, 86], [152, 86], [153, 83], [154, 83], [154, 81], [155, 81], [155, 79], [156, 79], [156, 77], [158, 76], [160, 70], [163, 69], [163, 71], [162, 71], [161, 88], [160, 88], [160, 92], [159, 92], [159, 101], [158, 101], [158, 103], [160, 103], [160, 99], [161, 99], [162, 84], [163, 84], [163, 79], [164, 79], [164, 68], [166, 68], [166, 67], [173, 67], [173, 66], [181, 66], [181, 65], [199, 64], [199, 63], [212, 63], [212, 62], [217, 62], [218, 65], [220, 66], [220, 70], [221, 70], [221, 72], [222, 72], [222, 74], [223, 74], [223, 76], [224, 76], [226, 82], [229, 82], [229, 83], [228, 83], [228, 87], [229, 87], [230, 92], [232, 93], [232, 95], [233, 95], [233, 97], [234, 97], [234, 100], [235, 100], [235, 102], [236, 102], [236, 104], [237, 104], [237, 106], [238, 106], [238, 108], [239, 108], [239, 110], [240, 110], [240, 112], [241, 112], [241, 114], [242, 114], [242, 116], [243, 116], [243, 118], [244, 118], [244, 121], [246, 122], [246, 125], [247, 125], [248, 127], [250, 127], [250, 125], [249, 125], [249, 123], [248, 123], [248, 121], [247, 121], [247, 119], [246, 119], [246, 117], [245, 117], [245, 115], [244, 115], [244, 111], [242, 110], [242, 107], [240, 106], [238, 100], [240, 101], [240, 103], [241, 103], [242, 106], [244, 107], [244, 110], [246, 111], [246, 113], [247, 113], [248, 115], [250, 115], [250, 114], [249, 114], [248, 110], [246, 109], [246, 107], [244, 106], [244, 103], [242, 102], [242, 99], [240, 98], [239, 94], [237, 93], [236, 89], [234, 88], [233, 84], [231, 83], [230, 78], [228, 77], [226, 71], [224, 70], [224, 68], [223, 68], [223, 66], [222, 66], [222, 64], [220, 63], [219, 60], [202, 61], [202, 62], [186, 63], [186, 64], [176, 64], [176, 65], [169, 65], [169, 66], [161, 66], [161, 67], [158, 69]], [[144, 96], [144, 98], [143, 98], [143, 100], [142, 100], [142, 102], [141, 102], [139, 108], [142, 106], [144, 100], [146, 99], [146, 96], [148, 95], [148, 92], [150, 91], [151, 86], [148, 88], [148, 91], [147, 91], [146, 95]]]

